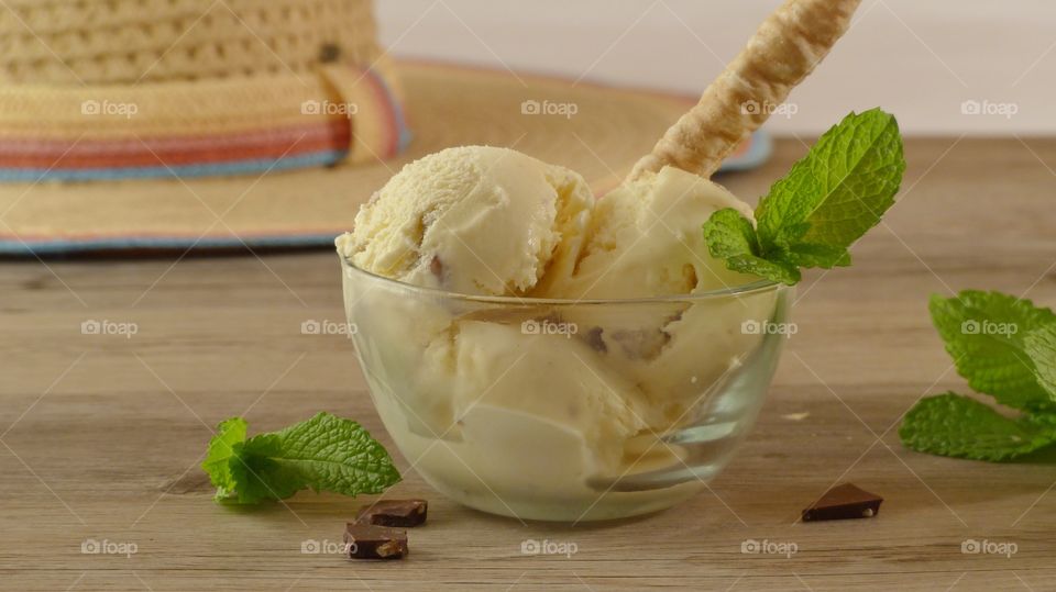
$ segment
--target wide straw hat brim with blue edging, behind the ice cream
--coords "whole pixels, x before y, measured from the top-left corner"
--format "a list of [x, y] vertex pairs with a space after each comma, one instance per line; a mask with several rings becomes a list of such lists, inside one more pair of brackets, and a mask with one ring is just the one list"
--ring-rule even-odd
[[[0, 254], [331, 245], [404, 164], [457, 145], [516, 148], [602, 190], [690, 104], [449, 65], [402, 63], [399, 75], [414, 139], [395, 159], [263, 176], [0, 183]], [[544, 112], [522, 112], [526, 101]]]

